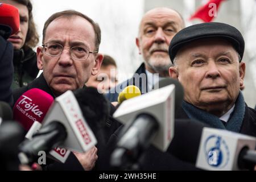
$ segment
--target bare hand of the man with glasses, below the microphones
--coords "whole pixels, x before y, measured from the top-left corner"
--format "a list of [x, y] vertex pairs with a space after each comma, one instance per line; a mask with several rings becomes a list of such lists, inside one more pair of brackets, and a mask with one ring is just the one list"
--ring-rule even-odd
[[98, 159], [97, 148], [95, 146], [93, 146], [92, 148], [90, 148], [90, 150], [84, 153], [73, 153], [75, 154], [76, 158], [79, 160], [85, 171], [92, 170], [95, 166], [96, 160]]

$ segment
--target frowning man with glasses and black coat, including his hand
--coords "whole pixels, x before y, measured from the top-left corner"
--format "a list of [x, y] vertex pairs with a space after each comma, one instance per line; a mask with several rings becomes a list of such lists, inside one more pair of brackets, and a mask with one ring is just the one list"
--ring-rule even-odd
[[[43, 45], [36, 50], [38, 68], [43, 70], [43, 74], [27, 86], [15, 90], [14, 101], [32, 88], [42, 89], [53, 98], [67, 90], [82, 88], [101, 67], [103, 55], [98, 53], [100, 41], [100, 27], [84, 14], [67, 10], [50, 16], [43, 28]], [[118, 126], [118, 123], [111, 122], [106, 130], [111, 134], [110, 130], [114, 132]], [[107, 140], [107, 136], [104, 137]], [[51, 164], [47, 169], [90, 170], [97, 160], [97, 148], [75, 155], [71, 153], [65, 164]]]

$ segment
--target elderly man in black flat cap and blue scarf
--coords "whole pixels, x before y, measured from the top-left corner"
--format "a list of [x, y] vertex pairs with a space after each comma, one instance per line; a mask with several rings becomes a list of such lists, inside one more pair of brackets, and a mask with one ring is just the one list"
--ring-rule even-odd
[[169, 54], [169, 74], [184, 86], [176, 118], [191, 118], [218, 129], [256, 136], [256, 111], [240, 89], [245, 77], [245, 42], [235, 27], [201, 23], [178, 32]]

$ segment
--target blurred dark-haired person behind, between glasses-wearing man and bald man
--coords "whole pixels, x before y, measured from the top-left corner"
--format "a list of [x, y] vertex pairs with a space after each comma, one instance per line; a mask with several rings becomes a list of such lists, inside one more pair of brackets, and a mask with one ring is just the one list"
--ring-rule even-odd
[[101, 69], [97, 75], [90, 76], [86, 86], [93, 86], [98, 92], [105, 93], [117, 84], [117, 64], [113, 57], [104, 55]]

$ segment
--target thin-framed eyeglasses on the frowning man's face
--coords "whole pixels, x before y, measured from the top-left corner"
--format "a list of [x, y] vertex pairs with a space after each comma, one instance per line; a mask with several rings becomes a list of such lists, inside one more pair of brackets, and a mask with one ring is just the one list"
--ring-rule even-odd
[[[59, 56], [64, 50], [64, 47], [58, 43], [46, 43], [43, 44], [43, 51], [49, 56]], [[88, 59], [90, 53], [98, 53], [98, 51], [91, 52], [84, 47], [71, 47], [70, 55], [73, 59], [85, 61]]]

